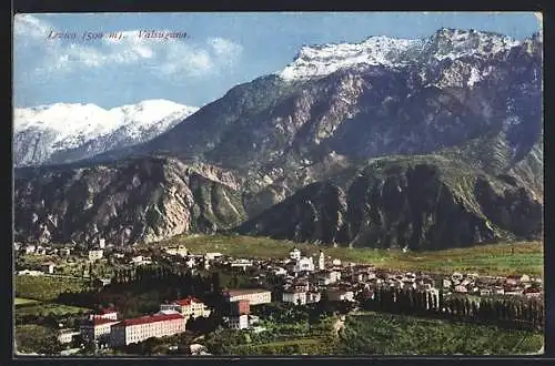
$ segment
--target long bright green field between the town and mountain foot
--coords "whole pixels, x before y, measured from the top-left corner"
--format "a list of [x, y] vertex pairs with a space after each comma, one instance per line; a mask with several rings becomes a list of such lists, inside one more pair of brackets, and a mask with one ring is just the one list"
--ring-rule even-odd
[[[482, 275], [528, 274], [543, 275], [543, 243], [515, 242], [453, 248], [435, 252], [407, 252], [326, 247], [309, 243], [293, 243], [266, 237], [241, 235], [176, 236], [157, 245], [185, 245], [193, 253], [220, 252], [232, 256], [286, 257], [296, 246], [309, 255], [321, 248], [331, 257], [356, 263], [371, 263], [384, 270], [453, 273], [476, 272]], [[513, 251], [512, 251], [513, 248]]]

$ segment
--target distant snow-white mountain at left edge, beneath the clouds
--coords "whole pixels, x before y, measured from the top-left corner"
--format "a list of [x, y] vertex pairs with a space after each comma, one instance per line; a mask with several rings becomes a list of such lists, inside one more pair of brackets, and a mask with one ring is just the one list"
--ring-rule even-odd
[[110, 110], [90, 103], [17, 108], [13, 111], [16, 163], [43, 163], [53, 153], [72, 149], [85, 149], [87, 155], [91, 155], [141, 143], [196, 111], [195, 106], [168, 100], [145, 100]]

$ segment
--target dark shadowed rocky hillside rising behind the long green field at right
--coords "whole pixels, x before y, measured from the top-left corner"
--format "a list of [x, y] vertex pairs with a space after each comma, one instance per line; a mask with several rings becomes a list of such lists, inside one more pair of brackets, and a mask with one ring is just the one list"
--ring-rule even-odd
[[376, 160], [345, 187], [314, 183], [238, 231], [344, 246], [437, 250], [513, 234], [537, 237], [542, 214], [542, 204], [525, 189], [421, 156]]

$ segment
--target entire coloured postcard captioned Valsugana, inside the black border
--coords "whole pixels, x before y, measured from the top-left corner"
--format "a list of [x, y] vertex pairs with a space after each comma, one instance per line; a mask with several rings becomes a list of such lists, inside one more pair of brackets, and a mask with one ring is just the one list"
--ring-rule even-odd
[[541, 13], [13, 30], [16, 357], [544, 353]]

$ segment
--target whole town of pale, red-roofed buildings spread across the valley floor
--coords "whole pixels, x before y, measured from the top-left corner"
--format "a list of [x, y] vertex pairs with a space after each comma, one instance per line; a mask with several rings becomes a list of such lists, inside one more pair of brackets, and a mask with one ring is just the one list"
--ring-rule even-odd
[[[222, 315], [219, 327], [264, 332], [260, 326], [264, 312], [256, 308], [273, 303], [314, 306], [325, 297], [325, 302], [346, 304], [347, 312], [356, 312], [369, 301], [377, 304], [380, 298], [382, 302], [385, 292], [391, 291], [392, 294], [397, 292], [396, 298], [401, 298], [401, 293], [425, 294], [428, 298], [425, 309], [443, 307], [446, 312], [445, 305], [438, 305], [440, 298], [462, 296], [480, 304], [484, 298], [526, 302], [543, 297], [538, 276], [387, 271], [372, 264], [345, 263], [327, 256], [325, 248], [319, 253], [302, 253], [292, 247], [283, 258], [231, 257], [222, 253], [191, 253], [183, 245], [157, 250], [117, 247], [99, 240], [94, 248], [14, 243], [14, 252], [17, 276], [89, 278], [99, 291], [129, 281], [123, 278], [124, 271], [147, 271], [163, 264], [184, 268], [191, 275], [231, 275], [231, 286], [221, 288], [223, 303], [206, 304], [201, 299], [202, 293], [178, 297], [178, 292], [175, 298], [160, 302], [157, 312], [134, 317], [123, 317], [113, 305], [91, 309], [83, 314], [78, 326], [60, 327], [58, 340], [68, 345], [65, 353], [83, 348], [92, 352], [121, 348], [150, 338], [175, 336], [184, 333], [192, 322], [210, 318], [214, 312]], [[238, 276], [244, 281], [239, 283]], [[471, 316], [470, 311], [467, 315]], [[69, 349], [70, 344], [73, 350]], [[190, 345], [190, 353], [209, 354], [198, 343]]]

